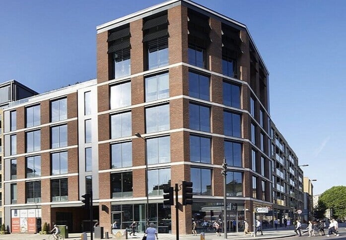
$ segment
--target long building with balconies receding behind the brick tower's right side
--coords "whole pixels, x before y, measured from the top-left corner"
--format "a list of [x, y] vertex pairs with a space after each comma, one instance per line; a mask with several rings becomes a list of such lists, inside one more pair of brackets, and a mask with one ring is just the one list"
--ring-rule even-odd
[[303, 210], [303, 171], [298, 157], [272, 122], [273, 215], [280, 224]]

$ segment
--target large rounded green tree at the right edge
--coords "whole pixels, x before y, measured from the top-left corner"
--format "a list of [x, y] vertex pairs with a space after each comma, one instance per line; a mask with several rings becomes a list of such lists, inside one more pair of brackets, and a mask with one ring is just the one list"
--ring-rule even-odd
[[333, 186], [322, 193], [320, 200], [333, 209], [334, 217], [346, 217], [346, 186]]

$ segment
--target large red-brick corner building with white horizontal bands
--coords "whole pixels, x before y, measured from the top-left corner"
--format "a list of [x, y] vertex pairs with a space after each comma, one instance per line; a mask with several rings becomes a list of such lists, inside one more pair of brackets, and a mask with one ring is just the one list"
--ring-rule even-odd
[[224, 158], [229, 229], [233, 218], [251, 225], [256, 207], [273, 206], [269, 73], [244, 24], [190, 0], [166, 1], [98, 26], [96, 67], [95, 80], [4, 109], [11, 232], [44, 222], [88, 230], [81, 196], [92, 190], [105, 232], [114, 221], [143, 231], [148, 219], [175, 233], [175, 208], [162, 194], [183, 180], [194, 199], [179, 207], [180, 234], [193, 219], [200, 231], [223, 218]]

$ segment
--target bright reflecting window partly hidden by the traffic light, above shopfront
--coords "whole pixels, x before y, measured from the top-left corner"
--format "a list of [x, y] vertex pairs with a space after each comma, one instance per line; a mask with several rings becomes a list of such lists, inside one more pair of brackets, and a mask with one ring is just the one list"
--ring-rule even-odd
[[156, 169], [148, 171], [148, 194], [156, 196], [163, 194], [163, 188], [171, 186], [171, 169]]

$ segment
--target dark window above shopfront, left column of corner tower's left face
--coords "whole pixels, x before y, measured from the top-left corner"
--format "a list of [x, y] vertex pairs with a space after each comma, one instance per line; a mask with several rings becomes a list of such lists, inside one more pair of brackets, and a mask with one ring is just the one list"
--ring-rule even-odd
[[132, 172], [111, 174], [112, 198], [132, 197]]

